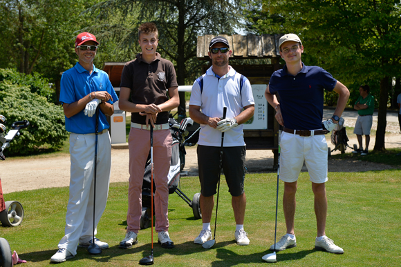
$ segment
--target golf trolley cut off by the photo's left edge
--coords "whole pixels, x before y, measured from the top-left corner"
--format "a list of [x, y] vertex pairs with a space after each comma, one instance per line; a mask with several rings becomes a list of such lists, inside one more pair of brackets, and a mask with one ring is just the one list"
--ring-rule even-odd
[[[12, 123], [11, 128], [7, 135], [4, 136], [6, 132], [6, 126], [3, 123], [6, 122], [6, 118], [0, 115], [0, 159], [5, 160], [6, 157], [3, 155], [3, 151], [10, 147], [10, 142], [19, 136], [19, 130], [29, 126], [29, 121], [15, 121]], [[0, 221], [3, 226], [19, 226], [24, 219], [24, 208], [18, 201], [4, 201], [3, 190], [1, 188], [0, 179]], [[11, 267], [12, 266], [12, 253], [10, 249], [10, 244], [8, 241], [0, 237], [0, 266]]]

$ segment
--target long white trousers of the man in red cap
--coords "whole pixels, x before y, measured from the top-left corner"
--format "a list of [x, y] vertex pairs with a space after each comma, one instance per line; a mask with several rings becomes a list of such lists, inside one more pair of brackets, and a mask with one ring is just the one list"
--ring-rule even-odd
[[[106, 208], [111, 169], [111, 141], [109, 132], [97, 135], [97, 170], [95, 199], [95, 233]], [[95, 161], [95, 135], [70, 135], [71, 179], [70, 198], [66, 213], [65, 235], [59, 248], [77, 254], [79, 243], [93, 236], [93, 178]]]

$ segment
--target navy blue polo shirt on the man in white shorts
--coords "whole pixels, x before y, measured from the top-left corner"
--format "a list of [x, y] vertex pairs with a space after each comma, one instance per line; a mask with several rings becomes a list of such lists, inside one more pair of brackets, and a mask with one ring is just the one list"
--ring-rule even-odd
[[290, 75], [287, 66], [273, 73], [270, 93], [279, 93], [284, 126], [293, 130], [321, 129], [324, 90], [332, 91], [337, 84], [323, 68], [305, 66], [297, 75]]

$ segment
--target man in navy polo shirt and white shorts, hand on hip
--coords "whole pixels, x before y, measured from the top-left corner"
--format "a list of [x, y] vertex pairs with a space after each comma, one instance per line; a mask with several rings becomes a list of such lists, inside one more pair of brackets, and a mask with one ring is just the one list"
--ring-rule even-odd
[[[296, 34], [285, 34], [279, 40], [281, 58], [286, 66], [270, 78], [265, 97], [276, 110], [281, 134], [280, 179], [284, 181], [283, 210], [287, 233], [277, 242], [275, 250], [297, 246], [294, 232], [295, 193], [297, 179], [304, 164], [308, 168], [315, 195], [317, 237], [315, 249], [342, 254], [344, 250], [326, 237], [327, 198], [327, 144], [324, 134], [334, 129], [346, 106], [349, 91], [326, 70], [305, 66], [301, 61], [304, 52], [301, 39]], [[333, 117], [321, 122], [323, 117], [324, 89], [339, 95]], [[279, 94], [280, 101], [276, 94]], [[270, 247], [274, 250], [274, 244]]]

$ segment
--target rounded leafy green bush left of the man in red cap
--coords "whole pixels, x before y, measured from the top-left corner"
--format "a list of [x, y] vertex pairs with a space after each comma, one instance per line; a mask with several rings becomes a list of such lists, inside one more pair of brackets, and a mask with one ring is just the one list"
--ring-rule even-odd
[[[36, 81], [36, 84], [44, 83]], [[30, 122], [28, 128], [20, 131], [21, 136], [11, 142], [7, 156], [37, 154], [38, 148], [45, 144], [60, 148], [68, 137], [62, 107], [32, 93], [26, 84], [19, 85], [8, 79], [0, 81], [0, 114], [7, 119], [7, 131], [15, 121], [27, 119]]]

